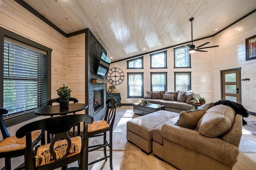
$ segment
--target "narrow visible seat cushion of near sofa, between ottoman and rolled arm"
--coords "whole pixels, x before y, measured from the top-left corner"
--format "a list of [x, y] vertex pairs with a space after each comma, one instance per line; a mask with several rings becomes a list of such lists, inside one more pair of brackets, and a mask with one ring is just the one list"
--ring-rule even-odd
[[178, 115], [179, 114], [176, 113], [176, 117], [172, 118], [171, 120], [168, 120], [167, 122], [164, 122], [164, 123], [160, 124], [159, 126], [157, 126], [156, 128], [153, 129], [152, 135], [153, 135], [153, 140], [154, 141], [158, 142], [159, 144], [163, 144], [163, 137], [162, 137], [162, 134], [161, 134], [162, 126], [165, 123], [175, 124], [177, 122], [178, 118], [180, 117]]

